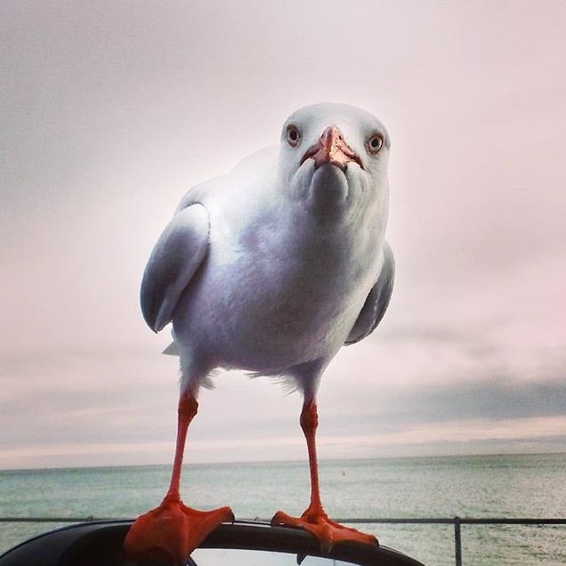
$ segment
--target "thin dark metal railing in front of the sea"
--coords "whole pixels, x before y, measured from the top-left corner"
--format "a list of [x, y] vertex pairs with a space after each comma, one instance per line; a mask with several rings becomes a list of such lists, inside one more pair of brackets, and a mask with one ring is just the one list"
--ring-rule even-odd
[[[94, 522], [94, 521], [125, 521], [128, 519], [117, 517], [0, 517], [0, 523], [3, 522]], [[269, 520], [255, 518], [246, 521], [263, 521]], [[485, 519], [473, 519], [472, 517], [426, 517], [426, 518], [402, 518], [402, 517], [384, 517], [384, 518], [338, 518], [337, 522], [347, 524], [415, 524], [415, 525], [454, 525], [454, 550], [456, 566], [462, 566], [462, 525], [566, 525], [564, 519], [533, 519], [527, 517], [505, 518], [505, 517], [486, 517]]]

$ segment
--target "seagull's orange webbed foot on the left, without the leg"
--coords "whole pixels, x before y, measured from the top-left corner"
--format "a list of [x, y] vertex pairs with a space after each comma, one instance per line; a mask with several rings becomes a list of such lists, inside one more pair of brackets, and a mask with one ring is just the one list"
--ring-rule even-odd
[[125, 537], [125, 551], [135, 560], [181, 566], [210, 532], [229, 521], [234, 521], [230, 507], [198, 511], [178, 498], [166, 497], [133, 523]]

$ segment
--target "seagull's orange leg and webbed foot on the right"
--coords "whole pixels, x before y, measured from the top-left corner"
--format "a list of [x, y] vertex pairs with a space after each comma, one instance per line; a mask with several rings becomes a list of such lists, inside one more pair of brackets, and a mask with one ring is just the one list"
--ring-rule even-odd
[[311, 468], [311, 504], [301, 517], [291, 517], [287, 513], [278, 511], [271, 519], [272, 525], [286, 525], [301, 527], [308, 530], [319, 539], [323, 552], [329, 552], [332, 546], [350, 542], [359, 545], [377, 546], [377, 539], [373, 535], [366, 535], [359, 530], [349, 529], [328, 518], [320, 502], [319, 490], [319, 464], [317, 461], [316, 431], [319, 425], [319, 415], [316, 401], [305, 400], [301, 413], [301, 428], [307, 441], [309, 451], [309, 466]]

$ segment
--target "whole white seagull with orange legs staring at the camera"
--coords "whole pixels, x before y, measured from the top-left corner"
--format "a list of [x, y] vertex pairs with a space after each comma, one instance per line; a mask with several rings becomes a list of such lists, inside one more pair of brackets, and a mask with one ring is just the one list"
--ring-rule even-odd
[[128, 532], [134, 558], [184, 564], [208, 533], [234, 521], [230, 507], [199, 511], [180, 497], [198, 392], [217, 368], [275, 377], [303, 394], [311, 501], [301, 517], [279, 511], [271, 524], [310, 531], [323, 551], [377, 545], [328, 518], [315, 436], [320, 377], [342, 346], [373, 332], [392, 295], [394, 259], [384, 239], [390, 147], [367, 111], [315, 104], [287, 118], [279, 148], [182, 198], [142, 279], [147, 324], [158, 332], [173, 323], [166, 352], [180, 357], [181, 385], [171, 485]]

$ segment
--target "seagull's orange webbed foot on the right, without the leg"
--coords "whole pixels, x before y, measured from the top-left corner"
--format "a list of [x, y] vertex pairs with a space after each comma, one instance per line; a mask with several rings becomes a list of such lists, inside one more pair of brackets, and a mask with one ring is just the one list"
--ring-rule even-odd
[[324, 511], [311, 511], [307, 509], [301, 517], [291, 517], [287, 513], [278, 511], [271, 519], [271, 525], [298, 527], [308, 530], [319, 539], [320, 550], [328, 554], [332, 547], [341, 543], [351, 543], [362, 546], [379, 546], [377, 538], [367, 535], [360, 530], [344, 527], [339, 522], [332, 521]]

